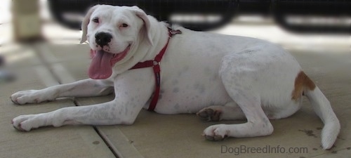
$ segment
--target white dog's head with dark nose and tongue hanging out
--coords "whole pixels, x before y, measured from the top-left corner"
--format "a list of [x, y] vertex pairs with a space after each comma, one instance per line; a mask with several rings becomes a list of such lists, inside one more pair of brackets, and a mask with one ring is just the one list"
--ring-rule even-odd
[[96, 5], [90, 8], [81, 29], [81, 43], [88, 40], [92, 50], [89, 76], [92, 79], [107, 79], [112, 67], [120, 60], [131, 57], [131, 48], [138, 42], [148, 42], [150, 21], [137, 6]]

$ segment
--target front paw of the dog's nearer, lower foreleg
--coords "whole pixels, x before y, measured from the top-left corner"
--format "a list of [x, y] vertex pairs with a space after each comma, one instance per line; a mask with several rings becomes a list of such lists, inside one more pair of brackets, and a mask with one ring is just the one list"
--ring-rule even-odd
[[26, 114], [15, 117], [11, 123], [19, 131], [30, 131], [39, 127], [39, 121], [37, 114]]

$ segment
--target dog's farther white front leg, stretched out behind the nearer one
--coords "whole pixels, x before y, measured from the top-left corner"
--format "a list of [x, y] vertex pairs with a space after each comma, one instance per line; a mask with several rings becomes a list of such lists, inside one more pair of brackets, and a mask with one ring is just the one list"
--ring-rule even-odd
[[11, 100], [13, 103], [23, 105], [26, 103], [41, 103], [55, 100], [55, 98], [60, 97], [103, 96], [113, 91], [113, 86], [109, 86], [107, 82], [105, 80], [84, 79], [41, 90], [19, 91], [11, 95]]

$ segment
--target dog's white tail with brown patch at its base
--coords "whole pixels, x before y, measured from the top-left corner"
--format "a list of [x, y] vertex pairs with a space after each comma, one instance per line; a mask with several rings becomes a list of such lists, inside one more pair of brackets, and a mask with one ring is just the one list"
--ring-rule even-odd
[[[302, 72], [303, 73], [303, 72]], [[340, 123], [336, 114], [331, 108], [329, 100], [322, 91], [313, 83], [313, 81], [303, 73], [305, 81], [303, 81], [303, 92], [307, 96], [308, 100], [314, 109], [314, 112], [324, 122], [324, 128], [322, 129], [322, 147], [324, 150], [333, 147], [333, 144], [338, 137], [340, 131]]]

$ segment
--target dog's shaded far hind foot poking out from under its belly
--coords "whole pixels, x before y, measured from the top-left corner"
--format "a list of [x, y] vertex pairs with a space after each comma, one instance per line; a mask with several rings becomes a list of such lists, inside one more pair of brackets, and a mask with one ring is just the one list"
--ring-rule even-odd
[[235, 102], [223, 105], [212, 105], [197, 112], [197, 116], [205, 121], [245, 119], [244, 112]]

